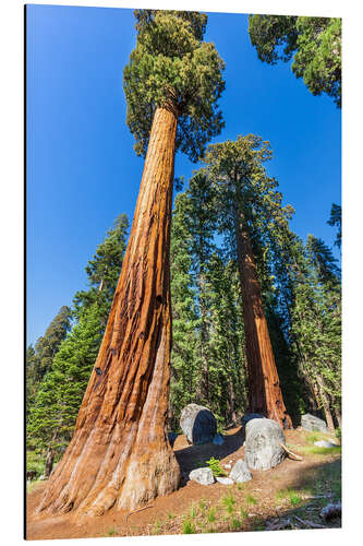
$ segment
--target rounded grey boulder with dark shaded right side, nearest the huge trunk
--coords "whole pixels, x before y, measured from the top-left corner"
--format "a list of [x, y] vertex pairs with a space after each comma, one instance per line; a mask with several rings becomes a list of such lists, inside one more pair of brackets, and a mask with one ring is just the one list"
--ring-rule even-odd
[[217, 422], [213, 413], [204, 406], [187, 404], [181, 413], [180, 426], [189, 443], [211, 442], [217, 434]]

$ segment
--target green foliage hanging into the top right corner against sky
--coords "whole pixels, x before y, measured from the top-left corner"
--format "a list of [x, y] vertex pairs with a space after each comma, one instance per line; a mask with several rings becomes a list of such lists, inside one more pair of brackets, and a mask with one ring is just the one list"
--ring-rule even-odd
[[341, 19], [250, 15], [249, 32], [258, 58], [289, 61], [313, 95], [326, 93], [341, 107]]

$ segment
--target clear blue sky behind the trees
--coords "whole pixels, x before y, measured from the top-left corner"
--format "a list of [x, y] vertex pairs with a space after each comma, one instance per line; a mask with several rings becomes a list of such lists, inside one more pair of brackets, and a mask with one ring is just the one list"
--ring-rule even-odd
[[[332, 246], [327, 225], [340, 203], [341, 116], [314, 97], [290, 66], [261, 62], [247, 15], [208, 14], [205, 39], [226, 61], [215, 142], [256, 133], [269, 140], [292, 229]], [[132, 221], [143, 159], [125, 123], [122, 71], [135, 45], [132, 10], [27, 8], [27, 342], [34, 343], [76, 290], [113, 219]], [[178, 154], [176, 176], [196, 166]], [[335, 250], [335, 254], [337, 251]]]

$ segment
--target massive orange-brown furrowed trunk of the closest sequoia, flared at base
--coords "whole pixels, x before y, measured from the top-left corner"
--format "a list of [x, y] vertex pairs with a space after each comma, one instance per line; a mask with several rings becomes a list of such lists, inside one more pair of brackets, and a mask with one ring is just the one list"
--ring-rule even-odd
[[177, 115], [155, 112], [130, 240], [74, 436], [38, 508], [132, 510], [178, 487], [165, 430], [171, 346], [170, 221]]

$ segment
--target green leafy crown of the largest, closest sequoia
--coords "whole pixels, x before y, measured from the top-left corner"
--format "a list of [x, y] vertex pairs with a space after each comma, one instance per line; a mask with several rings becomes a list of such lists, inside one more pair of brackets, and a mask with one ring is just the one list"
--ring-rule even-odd
[[225, 63], [203, 41], [207, 16], [197, 12], [136, 10], [137, 43], [123, 72], [128, 124], [135, 151], [146, 155], [157, 107], [178, 116], [177, 149], [197, 161], [223, 127], [217, 100]]

